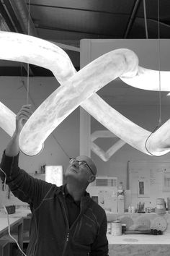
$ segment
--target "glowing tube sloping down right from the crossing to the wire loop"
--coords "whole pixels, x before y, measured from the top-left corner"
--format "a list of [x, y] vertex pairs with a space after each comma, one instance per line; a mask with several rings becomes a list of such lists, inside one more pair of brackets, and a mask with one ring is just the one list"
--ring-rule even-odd
[[[122, 116], [122, 114], [109, 106], [97, 94], [93, 95], [84, 103], [81, 103], [81, 106], [91, 116], [94, 116], [97, 121], [103, 124], [104, 127], [107, 127], [109, 131], [115, 133], [117, 137], [120, 137], [121, 140], [124, 140], [133, 148], [148, 155], [153, 154], [158, 156], [170, 151], [169, 121], [166, 121], [165, 124], [151, 135], [151, 132], [133, 123], [133, 121], [130, 121], [125, 116]], [[146, 150], [146, 140], [149, 135], [151, 137], [148, 139], [147, 148], [151, 154]]]

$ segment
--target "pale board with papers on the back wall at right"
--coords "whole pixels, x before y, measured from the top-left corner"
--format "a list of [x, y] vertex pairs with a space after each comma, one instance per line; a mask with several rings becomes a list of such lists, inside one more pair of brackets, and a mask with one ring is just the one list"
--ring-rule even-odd
[[128, 161], [128, 184], [132, 205], [155, 208], [157, 198], [169, 197], [170, 161]]

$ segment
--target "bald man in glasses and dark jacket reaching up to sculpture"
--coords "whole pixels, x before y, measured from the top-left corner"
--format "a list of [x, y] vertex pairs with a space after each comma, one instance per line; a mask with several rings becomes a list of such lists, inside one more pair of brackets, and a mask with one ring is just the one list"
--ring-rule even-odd
[[34, 179], [19, 168], [19, 134], [31, 114], [30, 105], [22, 106], [1, 161], [6, 184], [32, 211], [27, 256], [108, 255], [106, 214], [86, 192], [97, 174], [91, 158], [71, 158], [61, 187]]

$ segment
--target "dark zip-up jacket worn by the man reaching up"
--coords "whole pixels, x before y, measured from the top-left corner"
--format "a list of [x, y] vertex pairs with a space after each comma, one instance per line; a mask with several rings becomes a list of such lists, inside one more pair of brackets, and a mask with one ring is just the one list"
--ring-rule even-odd
[[[27, 256], [108, 255], [107, 218], [88, 193], [81, 197], [81, 211], [71, 228], [64, 186], [35, 179], [18, 166], [19, 155], [2, 157], [1, 169], [13, 194], [30, 204], [32, 220]], [[1, 179], [4, 174], [0, 171]]]

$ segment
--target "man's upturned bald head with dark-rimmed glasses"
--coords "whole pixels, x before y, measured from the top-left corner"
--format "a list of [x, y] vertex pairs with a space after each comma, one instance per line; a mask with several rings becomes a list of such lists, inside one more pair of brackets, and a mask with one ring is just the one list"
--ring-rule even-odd
[[90, 182], [93, 166], [91, 159], [85, 155], [77, 156], [76, 158], [71, 158], [68, 168], [66, 169], [66, 179], [73, 178], [80, 183]]

